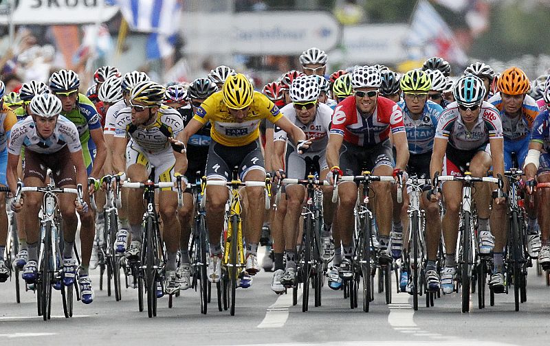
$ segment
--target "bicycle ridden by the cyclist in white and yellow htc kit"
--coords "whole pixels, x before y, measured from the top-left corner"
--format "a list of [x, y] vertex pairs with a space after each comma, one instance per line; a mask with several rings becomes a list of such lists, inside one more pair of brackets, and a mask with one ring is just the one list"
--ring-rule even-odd
[[[151, 174], [154, 176], [154, 174]], [[143, 310], [143, 280], [145, 278], [145, 291], [147, 293], [147, 314], [149, 318], [157, 316], [157, 290], [164, 291], [163, 277], [166, 264], [166, 246], [162, 242], [159, 230], [158, 214], [155, 209], [155, 189], [177, 186], [178, 205], [181, 207], [181, 176], [177, 182], [154, 183], [151, 177], [145, 183], [122, 182], [122, 187], [130, 189], [144, 189], [146, 209], [144, 212], [145, 231], [142, 235], [142, 253], [139, 262], [133, 262], [132, 274], [137, 277], [138, 303], [140, 312]], [[134, 279], [135, 280], [135, 279]]]

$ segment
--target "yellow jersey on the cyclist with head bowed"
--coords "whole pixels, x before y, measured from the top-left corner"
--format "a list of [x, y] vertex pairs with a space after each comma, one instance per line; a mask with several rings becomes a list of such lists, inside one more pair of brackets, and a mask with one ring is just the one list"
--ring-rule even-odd
[[260, 136], [259, 125], [262, 119], [272, 123], [283, 117], [283, 113], [265, 95], [254, 91], [252, 104], [243, 122], [236, 122], [229, 113], [222, 97], [222, 91], [213, 93], [201, 104], [195, 112], [195, 117], [201, 124], [210, 122], [210, 136], [222, 146], [246, 146]]

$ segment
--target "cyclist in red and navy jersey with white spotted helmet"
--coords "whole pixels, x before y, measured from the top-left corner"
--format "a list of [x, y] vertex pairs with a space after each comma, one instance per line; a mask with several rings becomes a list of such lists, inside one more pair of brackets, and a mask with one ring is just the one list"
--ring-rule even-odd
[[[344, 75], [346, 76], [346, 75]], [[358, 67], [352, 73], [354, 97], [347, 97], [338, 104], [332, 117], [329, 144], [327, 146], [327, 163], [331, 172], [327, 177], [333, 181], [334, 174], [360, 174], [362, 169], [370, 170], [375, 175], [397, 176], [405, 169], [408, 162], [408, 148], [403, 113], [395, 102], [379, 95], [382, 78], [374, 67]], [[392, 144], [389, 139], [393, 134], [397, 157], [393, 161]], [[366, 166], [363, 167], [363, 163]], [[342, 165], [342, 170], [340, 170]], [[395, 169], [394, 169], [395, 167]], [[380, 229], [380, 263], [391, 263], [388, 249], [391, 231], [393, 200], [390, 183], [373, 183], [375, 192], [375, 217]], [[342, 182], [338, 188], [340, 203], [336, 209], [333, 229], [342, 237], [344, 258], [338, 266], [340, 277], [351, 277], [351, 256], [353, 255], [353, 209], [357, 200], [357, 185]], [[336, 244], [336, 249], [340, 244]], [[336, 256], [335, 256], [336, 257]], [[329, 278], [330, 279], [330, 278]]]

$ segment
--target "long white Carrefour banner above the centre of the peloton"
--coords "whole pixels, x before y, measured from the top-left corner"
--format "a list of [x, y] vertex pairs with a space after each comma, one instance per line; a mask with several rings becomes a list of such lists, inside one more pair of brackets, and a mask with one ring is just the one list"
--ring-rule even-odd
[[329, 12], [184, 13], [186, 51], [197, 54], [296, 54], [331, 50], [340, 27]]

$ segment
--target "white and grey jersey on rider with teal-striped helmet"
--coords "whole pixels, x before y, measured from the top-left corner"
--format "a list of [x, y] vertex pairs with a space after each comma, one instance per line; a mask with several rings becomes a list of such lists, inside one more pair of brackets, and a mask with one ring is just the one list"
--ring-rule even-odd
[[489, 102], [483, 101], [481, 111], [472, 130], [462, 122], [459, 105], [452, 102], [441, 113], [435, 138], [447, 139], [458, 150], [474, 150], [489, 142], [489, 138], [503, 138], [503, 126], [498, 111]]

